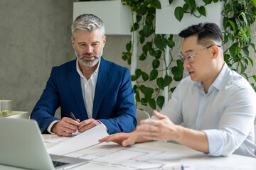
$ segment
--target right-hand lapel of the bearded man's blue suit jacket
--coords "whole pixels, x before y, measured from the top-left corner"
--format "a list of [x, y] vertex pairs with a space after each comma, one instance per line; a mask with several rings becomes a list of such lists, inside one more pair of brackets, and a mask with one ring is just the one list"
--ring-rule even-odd
[[96, 118], [97, 112], [100, 109], [100, 104], [102, 103], [103, 96], [107, 90], [107, 86], [110, 82], [110, 68], [107, 62], [101, 57], [100, 68], [97, 77], [97, 84], [95, 89], [95, 98], [93, 101], [92, 118]]

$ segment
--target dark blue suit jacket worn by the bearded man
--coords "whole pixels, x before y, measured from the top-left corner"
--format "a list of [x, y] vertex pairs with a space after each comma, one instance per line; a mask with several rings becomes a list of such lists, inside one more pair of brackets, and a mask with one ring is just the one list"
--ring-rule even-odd
[[[75, 117], [86, 120], [87, 111], [82, 97], [80, 76], [76, 71], [76, 60], [53, 67], [41, 98], [31, 113], [38, 122], [42, 133], [54, 120], [55, 111], [60, 107], [61, 117]], [[132, 132], [137, 125], [134, 91], [129, 69], [101, 57], [92, 118], [100, 120], [108, 133]]]

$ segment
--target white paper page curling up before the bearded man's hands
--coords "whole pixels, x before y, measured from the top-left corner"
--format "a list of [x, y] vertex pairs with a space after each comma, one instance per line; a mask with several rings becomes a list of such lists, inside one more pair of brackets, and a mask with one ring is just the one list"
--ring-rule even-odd
[[100, 124], [72, 137], [70, 140], [65, 140], [54, 147], [50, 147], [48, 152], [57, 155], [68, 154], [70, 152], [97, 145], [100, 143], [98, 140], [106, 136], [108, 136], [108, 133], [106, 132], [104, 125]]

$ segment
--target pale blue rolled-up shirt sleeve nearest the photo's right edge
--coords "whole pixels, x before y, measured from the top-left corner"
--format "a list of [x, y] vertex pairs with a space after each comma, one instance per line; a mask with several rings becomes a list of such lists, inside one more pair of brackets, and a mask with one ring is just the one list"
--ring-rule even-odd
[[210, 155], [228, 156], [245, 142], [255, 119], [255, 99], [254, 91], [239, 89], [223, 101], [225, 110], [218, 129], [203, 130], [208, 137]]

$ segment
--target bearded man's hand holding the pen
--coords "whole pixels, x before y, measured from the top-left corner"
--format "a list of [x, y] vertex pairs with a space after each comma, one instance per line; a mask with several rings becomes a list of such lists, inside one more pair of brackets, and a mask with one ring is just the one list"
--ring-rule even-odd
[[50, 131], [59, 136], [71, 136], [72, 133], [78, 130], [79, 122], [79, 119], [75, 121], [71, 118], [64, 117], [58, 123], [55, 123]]

